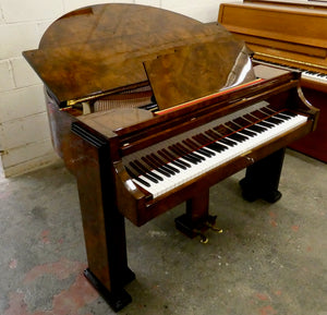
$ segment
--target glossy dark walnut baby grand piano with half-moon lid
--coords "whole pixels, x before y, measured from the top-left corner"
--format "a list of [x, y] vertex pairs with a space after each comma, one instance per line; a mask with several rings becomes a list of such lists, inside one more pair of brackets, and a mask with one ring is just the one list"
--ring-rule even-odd
[[78, 187], [88, 268], [113, 310], [131, 302], [124, 217], [180, 203], [194, 238], [215, 229], [209, 187], [246, 168], [245, 199], [280, 198], [284, 147], [315, 129], [300, 73], [256, 64], [220, 25], [135, 4], [57, 20], [24, 57], [45, 83], [53, 146]]

